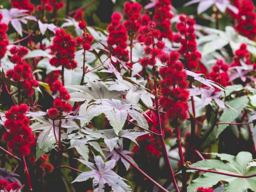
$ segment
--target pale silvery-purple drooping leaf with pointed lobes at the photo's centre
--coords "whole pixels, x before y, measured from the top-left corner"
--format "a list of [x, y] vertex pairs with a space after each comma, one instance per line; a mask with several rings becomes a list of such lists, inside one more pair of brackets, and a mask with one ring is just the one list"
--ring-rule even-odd
[[137, 121], [138, 125], [148, 128], [148, 123], [142, 115], [143, 111], [134, 104], [126, 104], [116, 99], [98, 99], [87, 109], [87, 122], [101, 113], [106, 115], [116, 134], [122, 130], [128, 114]]

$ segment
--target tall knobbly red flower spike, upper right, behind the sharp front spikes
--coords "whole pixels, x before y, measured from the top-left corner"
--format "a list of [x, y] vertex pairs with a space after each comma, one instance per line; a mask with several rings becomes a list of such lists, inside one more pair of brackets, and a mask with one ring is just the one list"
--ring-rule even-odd
[[176, 25], [178, 33], [173, 36], [173, 41], [181, 44], [179, 52], [184, 56], [186, 68], [195, 70], [201, 59], [201, 53], [198, 52], [195, 41], [195, 20], [184, 14], [180, 15], [179, 19], [180, 22]]

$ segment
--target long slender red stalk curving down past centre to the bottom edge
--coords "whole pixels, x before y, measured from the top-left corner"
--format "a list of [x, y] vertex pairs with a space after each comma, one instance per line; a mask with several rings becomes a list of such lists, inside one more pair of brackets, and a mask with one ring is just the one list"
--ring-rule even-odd
[[[156, 69], [155, 68], [153, 68], [153, 75], [154, 75], [154, 96], [155, 96], [155, 105], [156, 105], [155, 112], [156, 112], [156, 115], [157, 115], [157, 124], [158, 124], [158, 127], [159, 127], [160, 134], [163, 134], [162, 125], [161, 125], [161, 121], [160, 121], [159, 106], [158, 106], [157, 79], [156, 79]], [[165, 163], [168, 164], [169, 170], [171, 172], [173, 185], [175, 187], [176, 192], [179, 192], [180, 190], [179, 190], [179, 188], [177, 186], [177, 182], [175, 180], [175, 176], [174, 176], [174, 173], [173, 173], [173, 170], [172, 170], [172, 165], [171, 165], [170, 160], [169, 160], [169, 156], [168, 156], [168, 152], [167, 152], [167, 149], [166, 149], [166, 145], [165, 145], [163, 135], [160, 136], [160, 140], [161, 140], [161, 145], [163, 147], [163, 157], [164, 157]]]

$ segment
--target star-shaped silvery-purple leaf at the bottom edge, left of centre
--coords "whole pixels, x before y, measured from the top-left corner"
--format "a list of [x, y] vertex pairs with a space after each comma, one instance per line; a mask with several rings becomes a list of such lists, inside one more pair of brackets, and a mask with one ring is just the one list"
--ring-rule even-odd
[[93, 178], [94, 192], [104, 192], [105, 184], [111, 186], [113, 192], [131, 192], [131, 186], [124, 182], [125, 179], [112, 171], [116, 163], [115, 160], [109, 160], [104, 163], [100, 156], [95, 156], [94, 160], [95, 164], [80, 160], [91, 171], [81, 173], [73, 182], [81, 182]]

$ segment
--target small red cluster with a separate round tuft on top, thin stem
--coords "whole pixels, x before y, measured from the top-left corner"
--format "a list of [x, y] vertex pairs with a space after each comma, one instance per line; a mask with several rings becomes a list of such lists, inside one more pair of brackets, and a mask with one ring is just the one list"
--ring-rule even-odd
[[93, 36], [85, 32], [86, 23], [83, 20], [79, 21], [78, 26], [84, 33], [82, 37], [76, 38], [76, 44], [82, 46], [84, 51], [89, 51], [93, 43]]

